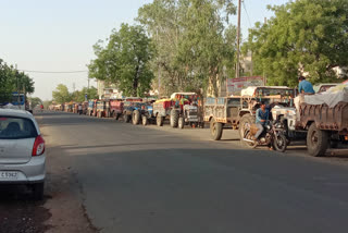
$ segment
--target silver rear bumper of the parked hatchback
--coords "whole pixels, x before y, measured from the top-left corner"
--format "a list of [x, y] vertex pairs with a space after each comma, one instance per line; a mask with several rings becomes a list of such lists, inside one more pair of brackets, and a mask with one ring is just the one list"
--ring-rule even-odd
[[0, 184], [40, 183], [46, 177], [46, 155], [32, 157], [23, 164], [0, 164], [0, 172], [17, 172], [15, 179], [0, 177]]

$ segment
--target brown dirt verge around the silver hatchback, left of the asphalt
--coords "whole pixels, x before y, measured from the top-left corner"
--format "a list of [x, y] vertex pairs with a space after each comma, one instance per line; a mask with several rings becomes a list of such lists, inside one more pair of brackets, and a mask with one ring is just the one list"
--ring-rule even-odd
[[[40, 119], [38, 119], [40, 123]], [[30, 199], [25, 185], [0, 185], [0, 233], [96, 233], [83, 206], [82, 187], [60, 147], [52, 147], [48, 128], [45, 199]]]

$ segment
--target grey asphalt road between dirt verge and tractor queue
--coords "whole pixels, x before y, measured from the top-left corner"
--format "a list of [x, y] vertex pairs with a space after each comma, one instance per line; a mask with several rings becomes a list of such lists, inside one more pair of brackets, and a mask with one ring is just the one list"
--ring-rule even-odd
[[115, 233], [346, 233], [347, 159], [249, 150], [235, 132], [38, 116], [91, 223]]

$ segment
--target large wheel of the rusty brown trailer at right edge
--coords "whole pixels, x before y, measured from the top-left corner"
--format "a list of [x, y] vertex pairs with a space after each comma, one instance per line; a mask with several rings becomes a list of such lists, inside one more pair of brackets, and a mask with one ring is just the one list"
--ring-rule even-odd
[[328, 147], [328, 133], [321, 131], [313, 122], [307, 133], [307, 150], [308, 154], [314, 157], [325, 156]]

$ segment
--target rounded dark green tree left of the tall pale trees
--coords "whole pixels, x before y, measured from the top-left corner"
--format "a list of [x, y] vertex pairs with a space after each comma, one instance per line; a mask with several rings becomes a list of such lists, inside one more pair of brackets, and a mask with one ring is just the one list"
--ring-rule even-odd
[[89, 77], [116, 84], [127, 96], [144, 96], [153, 78], [149, 68], [153, 48], [146, 32], [141, 26], [122, 24], [107, 41], [94, 46], [97, 59], [88, 65]]

